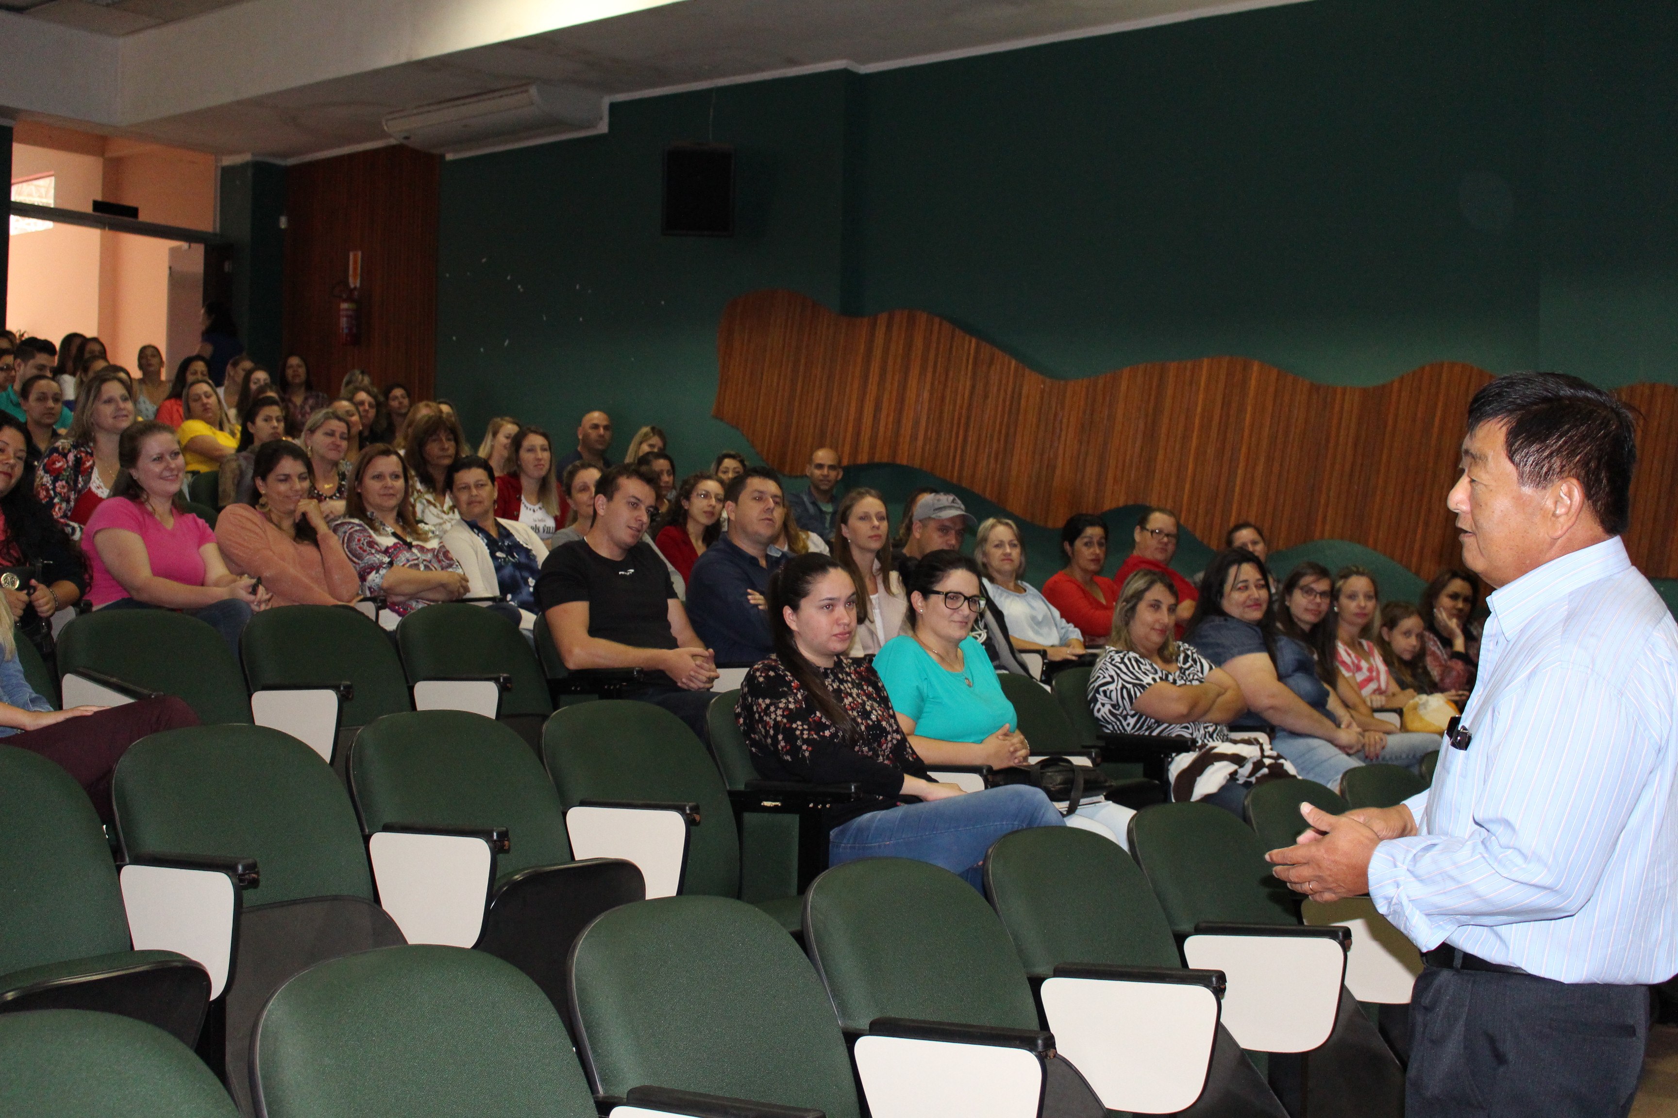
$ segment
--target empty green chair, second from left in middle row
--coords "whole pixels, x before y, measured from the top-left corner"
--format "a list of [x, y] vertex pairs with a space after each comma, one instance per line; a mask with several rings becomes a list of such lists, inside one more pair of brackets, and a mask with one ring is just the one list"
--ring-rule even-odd
[[116, 768], [112, 800], [131, 860], [171, 851], [260, 867], [221, 1006], [227, 1083], [250, 1113], [250, 1034], [274, 991], [322, 959], [403, 942], [374, 902], [344, 783], [277, 729], [198, 726], [134, 743]]

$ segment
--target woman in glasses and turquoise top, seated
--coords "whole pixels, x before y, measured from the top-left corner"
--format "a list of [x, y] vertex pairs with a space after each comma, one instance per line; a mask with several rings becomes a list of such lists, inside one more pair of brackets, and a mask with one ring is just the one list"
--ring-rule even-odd
[[[915, 754], [930, 766], [1025, 764], [1030, 744], [1014, 729], [1019, 716], [972, 635], [985, 602], [978, 567], [960, 551], [930, 551], [909, 573], [908, 590], [906, 629], [879, 650], [874, 670]], [[1079, 808], [1066, 823], [1123, 846], [1133, 815], [1102, 803]]]

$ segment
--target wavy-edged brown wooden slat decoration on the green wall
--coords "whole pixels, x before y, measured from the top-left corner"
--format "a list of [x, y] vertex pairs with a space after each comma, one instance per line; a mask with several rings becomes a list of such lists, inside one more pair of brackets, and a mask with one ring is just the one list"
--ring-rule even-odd
[[[1206, 357], [1057, 380], [926, 312], [851, 318], [784, 290], [730, 302], [717, 352], [713, 414], [785, 473], [826, 444], [849, 463], [925, 469], [1044, 525], [1153, 503], [1213, 545], [1252, 520], [1272, 550], [1352, 540], [1423, 577], [1460, 562], [1445, 494], [1468, 399], [1492, 379], [1433, 362], [1337, 387]], [[1621, 396], [1646, 416], [1626, 543], [1648, 575], [1678, 577], [1678, 389]]]

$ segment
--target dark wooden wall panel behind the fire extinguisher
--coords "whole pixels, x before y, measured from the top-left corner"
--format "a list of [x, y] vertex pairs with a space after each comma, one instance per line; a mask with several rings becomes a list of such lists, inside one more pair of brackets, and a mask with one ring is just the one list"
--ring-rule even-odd
[[[362, 369], [428, 399], [436, 380], [436, 221], [441, 158], [376, 148], [285, 173], [285, 352], [336, 394]], [[361, 344], [337, 340], [332, 285], [361, 251]], [[275, 369], [275, 379], [279, 370]]]

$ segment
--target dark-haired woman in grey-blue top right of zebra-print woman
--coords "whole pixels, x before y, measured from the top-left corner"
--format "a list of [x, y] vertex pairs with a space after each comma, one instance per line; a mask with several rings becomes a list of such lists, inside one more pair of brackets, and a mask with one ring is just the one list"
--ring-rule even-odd
[[[1230, 727], [1269, 732], [1270, 744], [1302, 778], [1337, 789], [1346, 769], [1388, 748], [1386, 734], [1359, 729], [1317, 677], [1312, 650], [1279, 630], [1270, 572], [1252, 551], [1220, 551], [1212, 560], [1200, 580], [1188, 639], [1240, 684], [1248, 712]], [[1418, 759], [1403, 763], [1415, 768]]]

